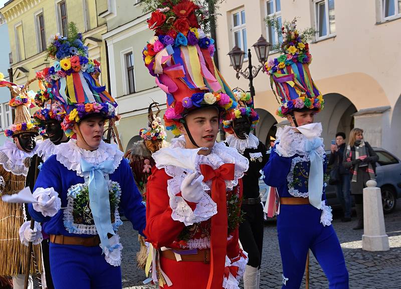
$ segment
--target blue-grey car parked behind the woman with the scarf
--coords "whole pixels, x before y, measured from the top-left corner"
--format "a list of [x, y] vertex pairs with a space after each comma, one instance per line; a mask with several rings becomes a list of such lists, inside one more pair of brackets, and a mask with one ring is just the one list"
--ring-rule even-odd
[[[376, 162], [376, 182], [377, 187], [381, 188], [383, 212], [390, 213], [396, 207], [397, 198], [401, 197], [401, 161], [385, 149], [373, 147], [373, 150], [379, 156]], [[326, 151], [327, 159], [330, 153], [331, 151]], [[331, 166], [328, 166], [327, 174], [330, 173], [330, 169]], [[327, 185], [326, 198], [327, 204], [332, 208], [341, 206], [334, 185]]]

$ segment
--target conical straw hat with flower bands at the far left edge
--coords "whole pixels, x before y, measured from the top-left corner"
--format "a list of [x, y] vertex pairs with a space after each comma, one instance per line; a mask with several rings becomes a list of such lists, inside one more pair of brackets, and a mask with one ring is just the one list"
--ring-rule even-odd
[[25, 86], [21, 87], [15, 83], [6, 81], [4, 75], [0, 73], [0, 87], [8, 87], [12, 94], [9, 106], [15, 109], [15, 120], [8, 129], [5, 130], [7, 137], [14, 137], [20, 133], [32, 132], [39, 134], [40, 128], [31, 118], [29, 107], [33, 107], [34, 92], [28, 91], [30, 80]]

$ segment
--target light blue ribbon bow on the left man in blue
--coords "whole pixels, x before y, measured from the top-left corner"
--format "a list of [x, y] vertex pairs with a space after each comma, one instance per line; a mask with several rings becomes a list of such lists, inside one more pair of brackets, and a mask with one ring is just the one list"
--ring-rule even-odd
[[107, 233], [115, 234], [111, 225], [109, 188], [103, 176], [103, 172], [110, 174], [114, 171], [113, 161], [109, 160], [93, 165], [81, 159], [81, 170], [89, 172], [89, 204], [100, 237], [100, 246], [104, 250], [105, 247], [110, 246]]

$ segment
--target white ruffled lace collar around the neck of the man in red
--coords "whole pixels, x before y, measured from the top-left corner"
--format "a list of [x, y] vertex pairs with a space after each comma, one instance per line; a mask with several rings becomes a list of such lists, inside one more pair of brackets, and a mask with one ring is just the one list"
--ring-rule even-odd
[[[168, 160], [168, 164], [159, 166], [158, 163], [158, 158], [163, 155], [163, 152], [167, 152], [167, 150], [174, 150], [177, 148], [185, 148], [185, 138], [184, 136], [180, 136], [178, 138], [172, 139], [171, 140], [171, 145], [170, 147], [167, 148], [161, 148], [157, 154], [153, 154], [152, 157], [154, 158], [156, 162], [156, 166], [158, 168], [164, 167], [165, 172], [172, 177], [177, 176], [177, 172], [175, 168], [178, 168], [178, 170], [187, 170], [183, 169], [182, 167], [177, 167], [176, 164], [181, 163], [180, 159], [175, 159], [173, 157], [174, 154], [168, 153], [171, 157]], [[209, 155], [197, 155], [197, 150], [196, 151], [196, 157], [192, 158], [195, 160], [194, 167], [196, 168], [196, 171], [200, 173], [200, 164], [207, 164], [210, 165], [213, 169], [218, 169], [220, 166], [226, 163], [232, 163], [235, 164], [235, 172], [234, 172], [234, 180], [232, 181], [226, 181], [226, 189], [232, 189], [238, 184], [238, 179], [242, 178], [244, 176], [244, 173], [248, 170], [249, 167], [249, 161], [246, 157], [243, 155], [239, 154], [236, 149], [227, 147], [224, 142], [221, 143], [216, 143], [215, 146], [212, 148], [212, 151]], [[207, 189], [207, 187], [205, 188]]]

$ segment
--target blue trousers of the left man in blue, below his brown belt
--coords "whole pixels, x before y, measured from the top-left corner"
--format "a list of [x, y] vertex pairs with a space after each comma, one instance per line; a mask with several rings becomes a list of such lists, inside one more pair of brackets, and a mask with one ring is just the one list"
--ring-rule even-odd
[[50, 267], [56, 289], [121, 289], [121, 267], [104, 259], [99, 246], [50, 243]]

